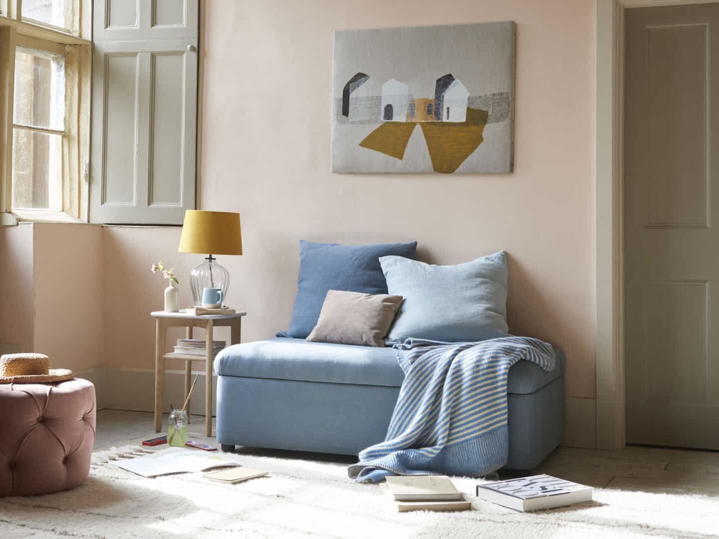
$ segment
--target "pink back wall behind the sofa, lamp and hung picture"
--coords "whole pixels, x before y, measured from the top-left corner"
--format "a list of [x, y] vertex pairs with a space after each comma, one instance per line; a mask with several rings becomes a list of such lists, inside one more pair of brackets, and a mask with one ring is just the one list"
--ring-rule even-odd
[[[595, 396], [592, 0], [266, 0], [203, 3], [201, 208], [242, 214], [244, 256], [229, 303], [249, 311], [243, 340], [290, 319], [298, 240], [416, 239], [427, 262], [510, 254], [510, 329], [561, 346], [567, 395]], [[515, 170], [508, 175], [334, 175], [332, 32], [517, 23]], [[105, 228], [107, 363], [152, 367], [150, 310], [162, 258], [183, 281], [200, 257], [177, 229]], [[184, 275], [184, 279], [183, 279]]]

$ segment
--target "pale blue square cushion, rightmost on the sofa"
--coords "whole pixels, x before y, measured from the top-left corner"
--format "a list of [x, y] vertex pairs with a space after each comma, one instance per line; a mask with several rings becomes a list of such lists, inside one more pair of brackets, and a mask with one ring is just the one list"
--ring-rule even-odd
[[404, 297], [388, 342], [408, 337], [433, 341], [484, 341], [506, 335], [505, 252], [455, 266], [403, 257], [380, 257], [387, 287]]

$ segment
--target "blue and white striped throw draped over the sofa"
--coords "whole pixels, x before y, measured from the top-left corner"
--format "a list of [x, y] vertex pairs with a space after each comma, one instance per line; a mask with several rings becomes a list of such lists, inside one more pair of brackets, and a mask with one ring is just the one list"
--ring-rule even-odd
[[406, 373], [385, 441], [347, 469], [357, 481], [388, 475], [483, 476], [509, 454], [507, 377], [524, 359], [549, 371], [554, 349], [529, 337], [477, 343], [408, 338], [395, 344]]

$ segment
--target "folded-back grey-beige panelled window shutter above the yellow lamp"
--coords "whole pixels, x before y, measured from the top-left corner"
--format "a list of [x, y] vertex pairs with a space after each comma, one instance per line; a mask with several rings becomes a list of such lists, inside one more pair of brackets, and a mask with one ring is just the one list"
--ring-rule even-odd
[[182, 224], [195, 207], [197, 8], [96, 2], [93, 223]]

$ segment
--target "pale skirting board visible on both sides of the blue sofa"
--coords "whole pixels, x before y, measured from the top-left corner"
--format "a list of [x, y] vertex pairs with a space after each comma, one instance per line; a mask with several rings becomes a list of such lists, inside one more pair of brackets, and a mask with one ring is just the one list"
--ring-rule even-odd
[[[205, 413], [205, 374], [200, 374], [197, 380], [190, 413], [204, 415]], [[124, 369], [122, 367], [94, 367], [76, 372], [78, 378], [85, 378], [95, 384], [97, 407], [114, 410], [133, 410], [137, 412], [152, 412], [155, 408], [155, 370], [154, 369]], [[212, 415], [215, 415], [215, 402], [217, 396], [217, 377], [212, 377]], [[162, 410], [170, 410], [170, 402], [175, 407], [183, 404], [185, 375], [180, 370], [165, 371], [165, 395], [162, 400]], [[564, 407], [564, 438], [562, 446], [582, 447], [593, 449], [596, 447], [596, 414], [597, 402], [595, 399], [580, 397], [567, 397]]]

